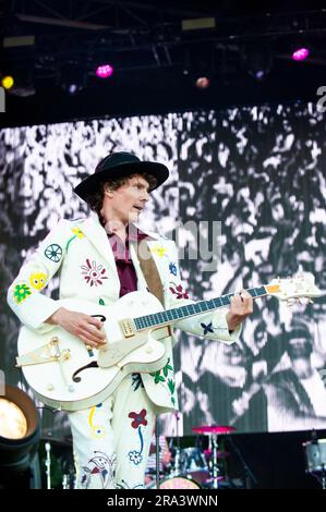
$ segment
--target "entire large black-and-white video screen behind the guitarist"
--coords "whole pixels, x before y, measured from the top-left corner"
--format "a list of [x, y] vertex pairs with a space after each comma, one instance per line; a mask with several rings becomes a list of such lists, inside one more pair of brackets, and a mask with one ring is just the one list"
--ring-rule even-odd
[[[172, 170], [153, 194], [143, 228], [177, 235], [192, 298], [266, 284], [299, 268], [325, 290], [324, 133], [323, 114], [302, 102], [2, 130], [3, 290], [60, 217], [87, 214], [72, 187], [114, 150]], [[190, 258], [198, 247], [198, 257]], [[56, 297], [57, 287], [53, 279], [47, 293]], [[324, 298], [292, 312], [275, 297], [257, 300], [231, 346], [178, 333], [181, 412], [161, 415], [161, 430], [190, 435], [207, 424], [239, 432], [326, 428], [325, 308]], [[0, 328], [1, 367], [17, 383], [19, 322], [5, 293]], [[45, 430], [60, 436], [67, 428], [64, 414], [44, 413]]]

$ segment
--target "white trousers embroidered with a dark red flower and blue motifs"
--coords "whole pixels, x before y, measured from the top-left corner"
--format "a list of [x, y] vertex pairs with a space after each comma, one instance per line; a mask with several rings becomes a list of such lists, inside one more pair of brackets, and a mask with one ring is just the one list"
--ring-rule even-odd
[[77, 488], [144, 488], [156, 414], [138, 374], [105, 402], [70, 413]]

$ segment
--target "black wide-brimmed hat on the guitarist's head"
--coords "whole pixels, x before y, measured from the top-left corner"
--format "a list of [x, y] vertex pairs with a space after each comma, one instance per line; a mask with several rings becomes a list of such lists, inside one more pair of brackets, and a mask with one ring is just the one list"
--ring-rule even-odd
[[169, 170], [162, 163], [142, 161], [135, 155], [126, 151], [118, 151], [108, 155], [96, 166], [94, 174], [85, 178], [74, 192], [86, 199], [89, 193], [96, 192], [99, 184], [114, 178], [124, 178], [130, 174], [146, 173], [156, 178], [157, 183], [150, 188], [157, 188], [169, 178]]

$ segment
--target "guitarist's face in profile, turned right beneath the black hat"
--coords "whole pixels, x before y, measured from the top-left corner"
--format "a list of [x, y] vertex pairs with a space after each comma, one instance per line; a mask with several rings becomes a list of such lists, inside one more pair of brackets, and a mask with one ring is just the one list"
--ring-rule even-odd
[[136, 222], [149, 198], [149, 183], [141, 175], [132, 176], [117, 191], [106, 191], [102, 212], [107, 221], [123, 224]]

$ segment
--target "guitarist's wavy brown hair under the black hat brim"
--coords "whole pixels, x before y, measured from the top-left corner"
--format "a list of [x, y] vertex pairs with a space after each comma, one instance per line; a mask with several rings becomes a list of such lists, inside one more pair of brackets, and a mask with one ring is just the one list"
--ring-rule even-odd
[[85, 200], [87, 205], [89, 206], [90, 210], [97, 214], [98, 219], [102, 225], [105, 225], [105, 219], [102, 218], [100, 210], [102, 208], [106, 190], [110, 188], [110, 191], [118, 191], [120, 186], [124, 185], [131, 178], [135, 176], [144, 178], [144, 180], [146, 180], [149, 184], [149, 191], [152, 191], [157, 184], [157, 180], [153, 175], [144, 172], [135, 172], [134, 174], [129, 174], [123, 178], [112, 178], [111, 180], [106, 180], [99, 184], [96, 192], [90, 192], [86, 195]]

